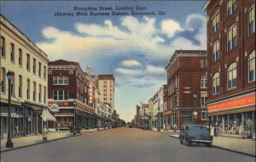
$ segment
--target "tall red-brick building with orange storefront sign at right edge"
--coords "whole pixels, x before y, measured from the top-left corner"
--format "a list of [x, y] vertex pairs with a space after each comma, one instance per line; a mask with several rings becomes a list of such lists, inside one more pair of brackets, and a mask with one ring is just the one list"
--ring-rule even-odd
[[222, 134], [255, 135], [255, 1], [212, 1], [207, 12], [208, 100]]

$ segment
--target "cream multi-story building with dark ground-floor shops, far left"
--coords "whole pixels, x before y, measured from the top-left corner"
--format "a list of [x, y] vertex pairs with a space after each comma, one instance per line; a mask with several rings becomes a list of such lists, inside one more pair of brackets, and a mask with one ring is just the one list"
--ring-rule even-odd
[[47, 106], [48, 56], [2, 15], [0, 29], [1, 137], [8, 129], [9, 71], [12, 136], [41, 133], [43, 119], [55, 120]]

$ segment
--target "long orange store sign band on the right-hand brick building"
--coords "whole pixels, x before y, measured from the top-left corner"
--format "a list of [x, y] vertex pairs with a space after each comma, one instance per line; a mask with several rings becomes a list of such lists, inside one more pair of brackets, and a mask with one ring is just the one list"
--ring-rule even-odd
[[249, 105], [255, 105], [255, 95], [249, 95], [242, 98], [236, 98], [222, 103], [216, 103], [208, 106], [208, 111], [216, 111], [221, 109], [234, 109]]

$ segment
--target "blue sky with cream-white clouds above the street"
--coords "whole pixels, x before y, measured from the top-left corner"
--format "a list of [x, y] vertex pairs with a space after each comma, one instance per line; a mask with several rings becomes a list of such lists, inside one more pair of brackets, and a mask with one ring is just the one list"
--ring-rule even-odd
[[[207, 49], [205, 3], [1, 1], [0, 12], [47, 53], [50, 61], [76, 61], [95, 75], [113, 74], [114, 109], [128, 122], [136, 115], [136, 105], [148, 103], [166, 84], [165, 68], [175, 50]], [[129, 15], [117, 15], [119, 12]]]

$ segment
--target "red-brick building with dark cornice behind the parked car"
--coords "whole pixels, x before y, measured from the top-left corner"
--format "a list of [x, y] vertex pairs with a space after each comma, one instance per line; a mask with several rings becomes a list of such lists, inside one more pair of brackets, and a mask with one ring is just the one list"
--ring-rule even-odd
[[171, 126], [207, 123], [207, 51], [176, 50], [166, 66]]

